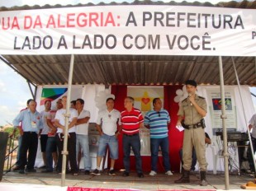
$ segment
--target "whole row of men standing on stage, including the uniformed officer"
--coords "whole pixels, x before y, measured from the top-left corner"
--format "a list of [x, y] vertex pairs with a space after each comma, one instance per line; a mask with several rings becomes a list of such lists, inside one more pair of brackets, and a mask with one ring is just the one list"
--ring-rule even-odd
[[[189, 170], [192, 162], [192, 147], [197, 153], [197, 160], [200, 165], [201, 185], [206, 185], [206, 156], [205, 156], [205, 132], [201, 119], [206, 116], [206, 100], [196, 94], [197, 83], [194, 81], [186, 82], [189, 96], [183, 100], [178, 111], [178, 125], [184, 119], [184, 140], [183, 140], [183, 176], [176, 180], [176, 183], [189, 182]], [[38, 137], [41, 142], [46, 142], [45, 149], [45, 172], [53, 171], [52, 153], [55, 153], [54, 144], [58, 149], [57, 171], [62, 168], [62, 154], [64, 144], [64, 124], [67, 107], [67, 97], [63, 96], [61, 107], [57, 111], [50, 110], [50, 100], [45, 101], [45, 111], [41, 114], [36, 111], [36, 101], [31, 100], [28, 108], [21, 111], [17, 118], [13, 120], [14, 126], [19, 128], [22, 136], [21, 142], [21, 165], [20, 173], [36, 171], [34, 169], [36, 160], [36, 150]], [[166, 175], [173, 175], [169, 160], [169, 142], [168, 125], [170, 117], [168, 111], [162, 109], [160, 98], [154, 98], [154, 109], [145, 114], [145, 119], [140, 109], [135, 109], [135, 100], [127, 96], [124, 100], [125, 110], [119, 112], [114, 109], [114, 99], [107, 98], [107, 109], [99, 111], [97, 117], [97, 131], [100, 138], [98, 140], [97, 168], [92, 171], [92, 175], [100, 175], [102, 157], [106, 154], [109, 147], [111, 167], [109, 175], [115, 175], [114, 165], [118, 158], [118, 136], [122, 133], [122, 151], [125, 171], [123, 176], [130, 175], [130, 149], [135, 155], [135, 168], [138, 177], [143, 178], [142, 160], [140, 156], [140, 128], [149, 128], [150, 133], [150, 151], [151, 151], [151, 171], [149, 175], [157, 175], [157, 161], [159, 156], [159, 147], [163, 155], [164, 170]], [[84, 160], [84, 173], [90, 174], [91, 161], [89, 156], [88, 142], [88, 122], [90, 119], [89, 111], [83, 109], [84, 101], [76, 100], [76, 109], [70, 108], [69, 128], [68, 128], [68, 151], [70, 171], [73, 175], [78, 175], [78, 150], [82, 148]], [[22, 123], [22, 127], [19, 123]], [[43, 130], [47, 127], [46, 130]], [[47, 135], [46, 135], [47, 134]], [[44, 135], [44, 136], [43, 136]], [[46, 141], [45, 141], [46, 140]], [[26, 161], [26, 152], [29, 150], [28, 160]], [[43, 154], [44, 156], [44, 154]], [[54, 157], [54, 159], [56, 159]], [[54, 160], [55, 162], [57, 160]], [[67, 166], [68, 168], [68, 166]]]

